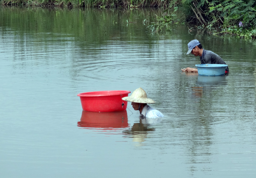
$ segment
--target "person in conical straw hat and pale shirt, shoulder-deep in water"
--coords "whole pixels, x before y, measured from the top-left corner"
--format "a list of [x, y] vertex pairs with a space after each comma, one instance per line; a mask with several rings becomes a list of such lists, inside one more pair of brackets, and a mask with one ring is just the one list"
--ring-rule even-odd
[[131, 96], [124, 97], [122, 100], [132, 102], [132, 108], [134, 110], [139, 110], [141, 117], [159, 118], [164, 116], [160, 111], [147, 105], [147, 103], [155, 103], [155, 101], [147, 98], [147, 93], [142, 88], [134, 90]]

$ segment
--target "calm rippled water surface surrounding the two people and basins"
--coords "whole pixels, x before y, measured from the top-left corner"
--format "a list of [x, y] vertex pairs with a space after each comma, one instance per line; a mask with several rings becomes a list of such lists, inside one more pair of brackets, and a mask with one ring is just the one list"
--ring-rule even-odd
[[[0, 14], [1, 177], [255, 176], [254, 40], [184, 25], [152, 34], [154, 9]], [[229, 65], [227, 77], [181, 72], [200, 63], [186, 55], [195, 38]], [[122, 122], [88, 123], [77, 96], [139, 87], [161, 122], [142, 123], [128, 103]]]

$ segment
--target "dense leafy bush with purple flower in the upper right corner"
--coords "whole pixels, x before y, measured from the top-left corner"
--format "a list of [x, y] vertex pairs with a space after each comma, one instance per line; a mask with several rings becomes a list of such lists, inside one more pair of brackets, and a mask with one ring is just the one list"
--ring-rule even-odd
[[256, 0], [182, 0], [182, 3], [190, 5], [192, 18], [207, 28], [218, 27], [225, 33], [255, 37]]

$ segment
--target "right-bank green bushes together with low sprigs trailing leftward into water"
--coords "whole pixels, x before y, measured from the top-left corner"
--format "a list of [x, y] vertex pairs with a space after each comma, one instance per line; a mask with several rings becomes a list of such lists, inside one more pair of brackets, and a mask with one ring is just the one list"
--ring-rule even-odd
[[[182, 8], [185, 17], [164, 14], [161, 18], [157, 17], [156, 29], [161, 30], [167, 22], [182, 20], [197, 22], [197, 28], [206, 27], [216, 31], [215, 34], [231, 33], [241, 38], [256, 38], [256, 0], [181, 0], [176, 5]], [[173, 12], [177, 11], [177, 7], [173, 8]]]

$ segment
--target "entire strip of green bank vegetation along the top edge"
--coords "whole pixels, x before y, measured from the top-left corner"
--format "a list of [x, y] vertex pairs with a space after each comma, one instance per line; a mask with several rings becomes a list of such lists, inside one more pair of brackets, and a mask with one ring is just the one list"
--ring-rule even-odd
[[170, 28], [172, 23], [197, 23], [215, 34], [231, 33], [256, 38], [256, 0], [0, 0], [2, 5], [46, 7], [139, 8], [162, 7], [152, 32]]

